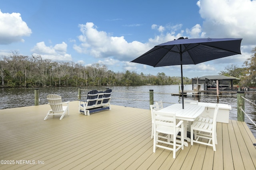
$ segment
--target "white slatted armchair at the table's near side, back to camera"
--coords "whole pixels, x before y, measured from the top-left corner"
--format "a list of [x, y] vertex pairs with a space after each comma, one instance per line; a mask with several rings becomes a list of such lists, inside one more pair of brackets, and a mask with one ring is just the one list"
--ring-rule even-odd
[[[163, 149], [168, 149], [173, 151], [173, 158], [176, 157], [176, 152], [179, 149], [184, 148], [184, 125], [183, 121], [179, 121], [176, 124], [175, 113], [166, 113], [161, 111], [153, 111], [154, 119], [154, 143], [153, 143], [153, 152], [156, 152], [156, 147]], [[181, 140], [176, 139], [178, 133], [181, 132]], [[158, 138], [159, 133], [164, 133], [171, 135], [171, 141], [160, 140]], [[178, 142], [178, 143], [177, 143]], [[166, 145], [159, 145], [158, 143], [163, 143]], [[171, 147], [172, 146], [172, 147]]]

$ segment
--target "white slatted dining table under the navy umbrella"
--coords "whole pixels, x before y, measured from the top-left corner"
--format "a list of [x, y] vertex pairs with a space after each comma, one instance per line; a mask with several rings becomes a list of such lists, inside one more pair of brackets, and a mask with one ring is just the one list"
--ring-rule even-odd
[[[184, 139], [190, 142], [190, 137], [187, 137], [187, 122], [195, 121], [198, 116], [200, 116], [204, 111], [204, 106], [198, 106], [196, 104], [187, 104], [182, 109], [182, 104], [173, 104], [163, 109], [160, 109], [161, 112], [166, 113], [175, 113], [176, 119], [184, 121]], [[192, 132], [191, 132], [192, 133]], [[184, 145], [187, 147], [188, 143], [184, 142]]]

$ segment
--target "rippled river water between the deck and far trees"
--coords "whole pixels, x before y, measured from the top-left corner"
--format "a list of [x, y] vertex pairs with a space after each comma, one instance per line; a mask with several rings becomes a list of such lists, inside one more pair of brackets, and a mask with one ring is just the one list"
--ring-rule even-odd
[[[106, 90], [106, 88], [112, 89], [111, 104], [137, 107], [143, 109], [149, 109], [149, 90], [154, 90], [154, 101], [162, 100], [164, 107], [181, 103], [182, 98], [180, 96], [171, 96], [171, 93], [178, 93], [178, 85], [165, 85], [165, 86], [102, 86], [102, 87], [83, 87], [87, 90]], [[184, 86], [184, 90], [192, 90], [192, 85]], [[88, 91], [82, 91], [82, 94], [86, 94]], [[62, 101], [75, 101], [78, 96], [78, 87], [60, 87], [60, 88], [39, 88], [39, 104], [47, 104], [46, 96], [48, 94], [58, 94], [62, 96]], [[216, 96], [194, 96], [188, 94], [185, 98], [198, 100], [199, 102], [217, 103]], [[256, 93], [246, 93], [245, 98], [254, 102], [256, 101]], [[0, 88], [0, 109], [23, 107], [34, 105], [34, 88]], [[230, 111], [230, 119], [237, 119], [236, 109], [236, 93], [224, 93], [219, 98], [220, 104], [229, 104], [232, 107]], [[1, 110], [0, 110], [1, 112]], [[245, 102], [245, 112], [250, 118], [256, 122], [256, 108]], [[254, 137], [256, 137], [256, 127], [245, 116], [245, 121], [250, 127]]]

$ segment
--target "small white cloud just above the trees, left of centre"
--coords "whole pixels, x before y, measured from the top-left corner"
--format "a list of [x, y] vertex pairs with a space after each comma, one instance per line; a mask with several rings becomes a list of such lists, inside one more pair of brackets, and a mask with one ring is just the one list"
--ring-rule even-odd
[[70, 54], [67, 54], [67, 44], [62, 42], [55, 46], [46, 46], [44, 41], [36, 43], [31, 50], [32, 55], [41, 55], [42, 59], [51, 59], [53, 61], [72, 61]]

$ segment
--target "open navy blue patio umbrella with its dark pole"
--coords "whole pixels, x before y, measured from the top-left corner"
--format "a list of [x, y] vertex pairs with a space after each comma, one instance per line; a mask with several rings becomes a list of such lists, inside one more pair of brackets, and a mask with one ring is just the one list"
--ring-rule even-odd
[[234, 38], [188, 39], [180, 37], [179, 39], [174, 39], [174, 41], [156, 45], [150, 51], [131, 62], [154, 67], [180, 65], [182, 108], [184, 109], [182, 65], [198, 64], [241, 54], [241, 41], [242, 39]]

